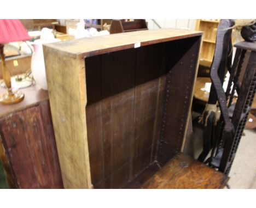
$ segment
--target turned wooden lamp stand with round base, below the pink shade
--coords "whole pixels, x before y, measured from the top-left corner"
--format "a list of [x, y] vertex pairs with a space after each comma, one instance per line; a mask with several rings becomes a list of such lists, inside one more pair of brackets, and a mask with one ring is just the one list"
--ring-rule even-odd
[[22, 101], [24, 99], [24, 93], [21, 93], [20, 91], [13, 91], [11, 89], [10, 72], [8, 71], [5, 64], [3, 49], [4, 49], [4, 44], [0, 44], [0, 56], [2, 60], [3, 79], [7, 87], [8, 93], [3, 93], [2, 95], [0, 95], [0, 103], [4, 105], [8, 105], [8, 104], [14, 104]]

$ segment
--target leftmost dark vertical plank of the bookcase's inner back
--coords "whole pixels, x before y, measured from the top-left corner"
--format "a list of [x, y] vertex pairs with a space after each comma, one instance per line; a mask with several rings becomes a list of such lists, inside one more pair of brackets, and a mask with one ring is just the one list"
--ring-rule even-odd
[[[91, 168], [91, 181], [96, 184], [104, 178], [101, 56], [86, 59], [86, 125]], [[93, 70], [92, 70], [93, 69]]]

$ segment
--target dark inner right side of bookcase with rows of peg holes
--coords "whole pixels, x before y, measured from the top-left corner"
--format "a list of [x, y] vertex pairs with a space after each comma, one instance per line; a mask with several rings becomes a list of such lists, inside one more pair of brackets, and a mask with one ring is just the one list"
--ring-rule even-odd
[[188, 124], [200, 39], [170, 43], [157, 161], [165, 164], [182, 150]]

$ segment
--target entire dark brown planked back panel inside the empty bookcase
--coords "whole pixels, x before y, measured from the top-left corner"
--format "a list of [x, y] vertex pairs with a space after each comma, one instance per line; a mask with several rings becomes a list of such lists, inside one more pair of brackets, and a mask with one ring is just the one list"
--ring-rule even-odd
[[166, 52], [166, 44], [155, 44], [85, 59], [95, 187], [121, 187], [155, 160]]

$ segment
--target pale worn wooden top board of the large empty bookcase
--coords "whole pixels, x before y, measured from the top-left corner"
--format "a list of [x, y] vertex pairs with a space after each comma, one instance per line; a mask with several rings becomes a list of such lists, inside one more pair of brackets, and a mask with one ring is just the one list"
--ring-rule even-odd
[[186, 29], [143, 30], [131, 33], [118, 33], [92, 38], [75, 39], [45, 45], [73, 58], [77, 56], [89, 57], [133, 48], [136, 42], [141, 42], [141, 46], [146, 46], [160, 42], [200, 36], [201, 34], [201, 32]]

